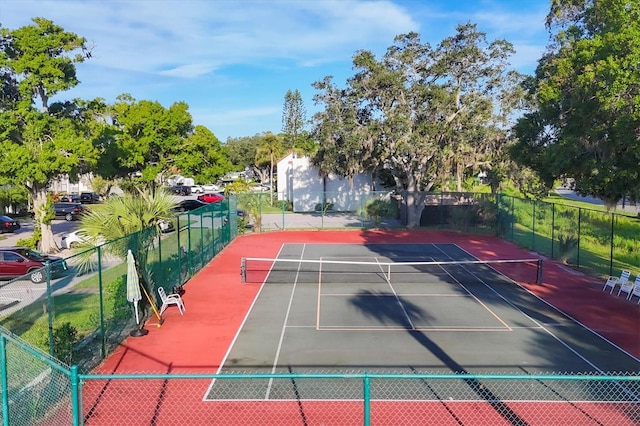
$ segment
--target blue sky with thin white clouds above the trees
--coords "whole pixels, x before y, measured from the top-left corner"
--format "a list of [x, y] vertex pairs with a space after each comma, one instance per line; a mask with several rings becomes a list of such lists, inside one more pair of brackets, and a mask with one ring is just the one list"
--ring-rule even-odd
[[0, 24], [51, 19], [87, 39], [80, 84], [55, 99], [129, 93], [165, 107], [185, 101], [194, 124], [222, 142], [282, 129], [287, 90], [308, 118], [311, 87], [327, 75], [344, 86], [358, 50], [381, 56], [398, 34], [438, 44], [472, 22], [489, 40], [513, 43], [512, 66], [532, 73], [548, 40], [545, 0], [110, 0], [0, 1]]

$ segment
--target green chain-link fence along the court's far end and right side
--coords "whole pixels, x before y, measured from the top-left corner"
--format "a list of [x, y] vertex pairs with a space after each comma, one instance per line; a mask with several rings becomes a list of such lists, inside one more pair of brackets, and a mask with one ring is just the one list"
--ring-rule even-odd
[[[593, 276], [640, 274], [640, 217], [508, 195], [428, 193], [420, 227], [499, 235]], [[256, 230], [401, 227], [400, 198], [390, 192], [245, 194], [240, 208], [255, 216]]]

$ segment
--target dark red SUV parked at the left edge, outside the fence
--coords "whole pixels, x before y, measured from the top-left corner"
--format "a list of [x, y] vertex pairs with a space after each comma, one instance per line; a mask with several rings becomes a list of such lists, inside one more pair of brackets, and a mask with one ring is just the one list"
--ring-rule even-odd
[[34, 283], [47, 278], [45, 266], [49, 263], [51, 277], [57, 277], [68, 269], [61, 257], [48, 256], [26, 247], [0, 247], [0, 278], [11, 279], [29, 275]]

